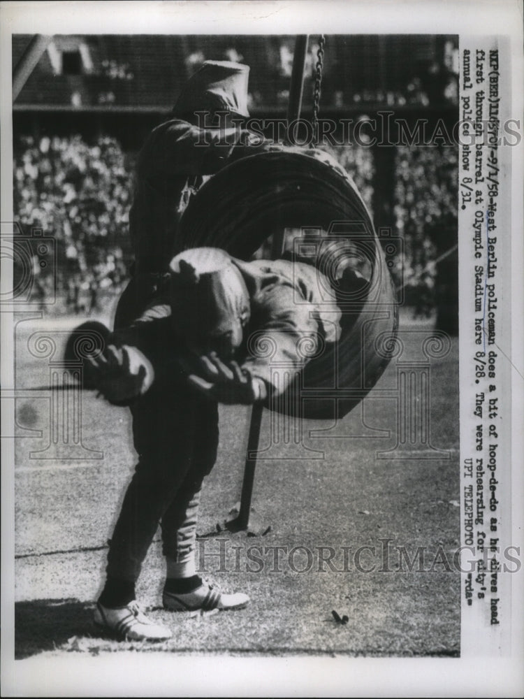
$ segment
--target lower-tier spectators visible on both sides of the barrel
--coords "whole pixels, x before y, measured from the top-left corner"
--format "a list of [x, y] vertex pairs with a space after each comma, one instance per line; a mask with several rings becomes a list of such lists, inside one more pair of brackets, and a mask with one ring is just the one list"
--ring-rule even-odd
[[[372, 149], [331, 151], [373, 210]], [[56, 265], [38, 272], [35, 293], [44, 296], [56, 284], [61, 312], [94, 313], [104, 296], [115, 296], [126, 282], [133, 160], [108, 137], [92, 144], [81, 136], [25, 137], [15, 144], [17, 222], [24, 234], [42, 229], [56, 243]], [[456, 239], [457, 167], [450, 147], [396, 150], [394, 226], [404, 253], [393, 259], [393, 275], [419, 312], [435, 305], [435, 259]]]

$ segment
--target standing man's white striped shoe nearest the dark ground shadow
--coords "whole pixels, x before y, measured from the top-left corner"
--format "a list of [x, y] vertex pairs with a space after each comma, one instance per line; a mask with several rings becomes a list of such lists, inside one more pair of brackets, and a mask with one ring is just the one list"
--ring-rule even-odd
[[148, 619], [136, 600], [117, 609], [109, 609], [99, 602], [96, 603], [94, 624], [119, 640], [163, 641], [172, 636], [166, 626], [160, 626]]

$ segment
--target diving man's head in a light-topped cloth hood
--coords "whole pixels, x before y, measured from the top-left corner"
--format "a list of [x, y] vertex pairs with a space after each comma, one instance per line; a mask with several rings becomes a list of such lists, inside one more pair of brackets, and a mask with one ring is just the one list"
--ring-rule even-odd
[[175, 333], [198, 354], [231, 359], [249, 321], [249, 293], [231, 257], [195, 247], [171, 260], [171, 317]]

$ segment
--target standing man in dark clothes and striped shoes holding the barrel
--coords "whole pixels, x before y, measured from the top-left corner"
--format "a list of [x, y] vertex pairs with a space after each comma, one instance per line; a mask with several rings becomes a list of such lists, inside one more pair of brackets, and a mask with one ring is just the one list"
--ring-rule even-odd
[[[238, 124], [249, 117], [248, 75], [249, 67], [242, 64], [205, 62], [182, 90], [172, 117], [147, 138], [129, 216], [133, 278], [117, 306], [116, 330], [140, 318], [157, 298], [192, 192], [232, 159], [263, 147], [258, 136]], [[175, 394], [161, 388], [148, 392], [131, 405], [131, 413], [138, 466], [112, 534], [95, 622], [119, 637], [159, 640], [170, 637], [170, 630], [145, 616], [135, 594], [159, 521], [166, 593], [177, 595], [173, 606], [231, 609], [244, 607], [248, 598], [228, 596], [202, 582], [192, 556], [201, 482], [216, 458], [217, 403], [186, 384]], [[167, 500], [164, 489], [170, 493]]]

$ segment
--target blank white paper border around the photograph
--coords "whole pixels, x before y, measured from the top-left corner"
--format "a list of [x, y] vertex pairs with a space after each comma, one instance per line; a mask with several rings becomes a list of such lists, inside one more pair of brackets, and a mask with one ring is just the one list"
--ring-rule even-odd
[[[351, 2], [2, 2], [1, 218], [12, 220], [11, 34], [462, 34], [507, 36], [511, 114], [523, 118], [523, 4], [515, 0]], [[511, 155], [511, 512], [512, 543], [524, 550], [523, 146]], [[2, 283], [10, 271], [2, 261]], [[2, 384], [13, 379], [12, 326], [1, 314]], [[509, 329], [506, 329], [506, 333]], [[507, 336], [506, 336], [507, 337]], [[508, 340], [508, 337], [507, 337]], [[507, 343], [509, 345], [509, 341]], [[13, 433], [2, 415], [2, 433]], [[108, 654], [13, 661], [13, 440], [2, 456], [3, 696], [521, 696], [524, 659], [523, 576], [511, 576], [514, 623], [499, 658], [240, 658]], [[125, 679], [124, 679], [125, 678]], [[153, 679], [154, 678], [154, 679]]]

